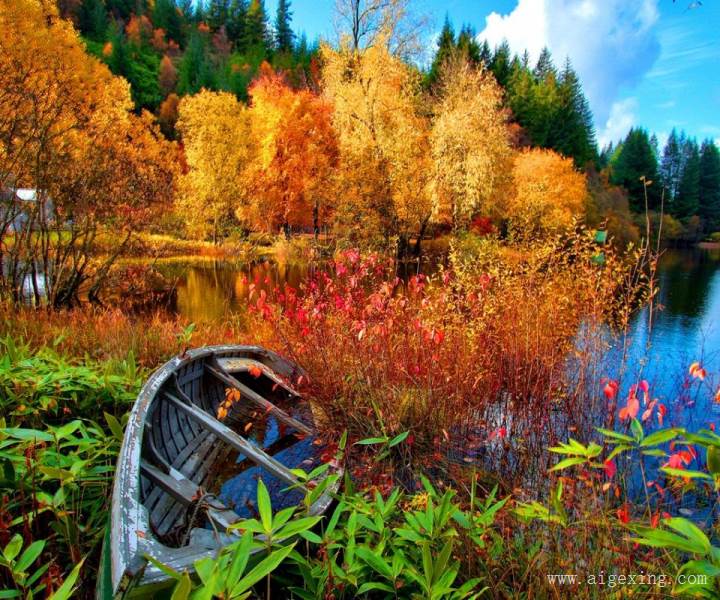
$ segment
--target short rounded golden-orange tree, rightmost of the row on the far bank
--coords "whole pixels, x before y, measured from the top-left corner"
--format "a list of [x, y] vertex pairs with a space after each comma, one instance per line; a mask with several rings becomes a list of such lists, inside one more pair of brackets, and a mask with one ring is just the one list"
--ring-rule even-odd
[[518, 236], [568, 229], [582, 218], [587, 185], [571, 158], [552, 150], [524, 150], [516, 154], [512, 173], [504, 216]]

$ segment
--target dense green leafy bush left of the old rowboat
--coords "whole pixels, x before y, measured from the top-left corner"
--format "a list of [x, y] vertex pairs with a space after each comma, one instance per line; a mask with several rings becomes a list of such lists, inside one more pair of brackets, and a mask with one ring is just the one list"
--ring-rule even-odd
[[0, 534], [11, 537], [0, 551], [0, 588], [12, 591], [1, 597], [41, 596], [59, 578], [55, 598], [69, 597], [97, 565], [126, 420], [119, 415], [141, 372], [132, 356], [83, 364], [10, 337], [0, 338], [0, 354]]

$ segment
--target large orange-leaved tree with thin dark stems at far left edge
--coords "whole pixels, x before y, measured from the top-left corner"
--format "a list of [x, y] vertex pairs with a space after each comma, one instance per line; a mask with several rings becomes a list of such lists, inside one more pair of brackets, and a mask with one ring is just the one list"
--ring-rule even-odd
[[[150, 115], [133, 114], [127, 82], [86, 54], [54, 3], [2, 3], [0, 28], [0, 188], [10, 192], [0, 294], [22, 301], [29, 281], [35, 303], [65, 306], [81, 286], [97, 296], [117, 253], [172, 196], [174, 145]], [[32, 201], [17, 201], [21, 187]], [[118, 239], [101, 258], [103, 229]]]

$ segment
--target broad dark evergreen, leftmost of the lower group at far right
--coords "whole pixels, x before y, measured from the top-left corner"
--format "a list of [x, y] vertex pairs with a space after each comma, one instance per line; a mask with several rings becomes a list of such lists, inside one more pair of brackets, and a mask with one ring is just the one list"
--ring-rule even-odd
[[648, 207], [651, 210], [657, 208], [660, 198], [657, 160], [647, 131], [639, 128], [631, 129], [625, 141], [615, 151], [610, 166], [611, 181], [627, 190], [631, 210], [635, 212], [645, 210], [645, 191], [641, 177], [653, 182], [647, 189]]

